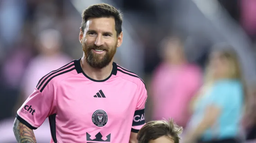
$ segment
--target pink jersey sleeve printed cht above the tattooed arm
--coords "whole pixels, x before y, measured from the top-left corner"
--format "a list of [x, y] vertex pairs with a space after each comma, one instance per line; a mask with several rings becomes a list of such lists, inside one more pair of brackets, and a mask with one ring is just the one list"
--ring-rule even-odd
[[45, 85], [43, 90], [35, 88], [17, 111], [16, 118], [30, 129], [37, 129], [49, 115], [55, 112], [55, 91], [52, 82]]

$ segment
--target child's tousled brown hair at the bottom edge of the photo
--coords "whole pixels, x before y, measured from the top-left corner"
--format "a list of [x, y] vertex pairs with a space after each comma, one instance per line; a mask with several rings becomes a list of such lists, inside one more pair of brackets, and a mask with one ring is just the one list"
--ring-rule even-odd
[[138, 143], [148, 143], [150, 140], [156, 140], [161, 136], [167, 136], [174, 140], [174, 143], [180, 142], [179, 134], [182, 133], [182, 127], [176, 125], [173, 119], [150, 121], [146, 123], [138, 132]]

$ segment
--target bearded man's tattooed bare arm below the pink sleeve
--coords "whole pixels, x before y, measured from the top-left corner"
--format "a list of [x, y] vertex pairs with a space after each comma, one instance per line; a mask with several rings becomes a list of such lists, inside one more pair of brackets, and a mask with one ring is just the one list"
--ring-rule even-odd
[[36, 137], [33, 130], [15, 119], [13, 124], [13, 133], [18, 143], [36, 143]]

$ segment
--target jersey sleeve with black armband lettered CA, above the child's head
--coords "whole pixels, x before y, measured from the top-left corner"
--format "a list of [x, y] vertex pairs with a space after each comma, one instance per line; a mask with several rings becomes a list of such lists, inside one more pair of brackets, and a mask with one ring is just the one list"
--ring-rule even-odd
[[142, 126], [145, 124], [145, 105], [147, 101], [147, 90], [145, 87], [145, 84], [143, 81], [140, 82], [138, 86], [138, 101], [137, 101], [137, 106], [134, 112], [134, 117], [132, 121], [132, 127], [131, 127], [131, 132], [138, 133], [139, 130], [142, 128]]

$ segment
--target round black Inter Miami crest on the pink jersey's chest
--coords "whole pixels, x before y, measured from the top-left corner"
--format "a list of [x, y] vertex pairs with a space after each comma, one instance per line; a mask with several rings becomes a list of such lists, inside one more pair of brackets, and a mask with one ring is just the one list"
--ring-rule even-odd
[[108, 122], [108, 114], [103, 110], [96, 110], [92, 114], [92, 122], [97, 126], [104, 126]]

